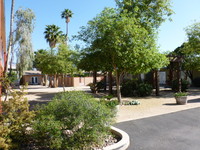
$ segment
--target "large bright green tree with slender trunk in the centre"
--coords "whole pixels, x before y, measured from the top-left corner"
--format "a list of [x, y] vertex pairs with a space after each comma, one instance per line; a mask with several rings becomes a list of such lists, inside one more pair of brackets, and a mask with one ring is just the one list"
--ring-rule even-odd
[[167, 64], [167, 58], [157, 51], [154, 34], [131, 14], [106, 8], [78, 35], [94, 50], [109, 56], [106, 61], [115, 71], [120, 102], [120, 78], [125, 72], [145, 73]]

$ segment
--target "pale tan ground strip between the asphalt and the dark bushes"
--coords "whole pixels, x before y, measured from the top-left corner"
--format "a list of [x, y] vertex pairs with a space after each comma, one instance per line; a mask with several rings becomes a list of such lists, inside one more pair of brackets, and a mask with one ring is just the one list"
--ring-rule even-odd
[[120, 106], [117, 122], [136, 120], [200, 107], [200, 91], [189, 91], [188, 104], [176, 105], [173, 94], [162, 97], [137, 98], [140, 105]]

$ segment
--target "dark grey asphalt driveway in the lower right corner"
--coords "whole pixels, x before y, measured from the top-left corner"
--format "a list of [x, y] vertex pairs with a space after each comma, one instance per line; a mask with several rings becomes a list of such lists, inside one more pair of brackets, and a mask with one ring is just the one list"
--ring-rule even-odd
[[200, 150], [200, 108], [121, 122], [128, 150]]

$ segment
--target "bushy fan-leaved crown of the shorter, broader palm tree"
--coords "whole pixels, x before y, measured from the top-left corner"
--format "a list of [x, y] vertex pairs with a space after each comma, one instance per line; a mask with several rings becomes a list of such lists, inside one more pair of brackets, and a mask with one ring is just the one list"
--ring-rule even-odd
[[54, 48], [56, 44], [60, 41], [60, 37], [63, 35], [63, 32], [60, 31], [60, 27], [56, 25], [46, 25], [45, 39], [49, 43], [51, 48]]

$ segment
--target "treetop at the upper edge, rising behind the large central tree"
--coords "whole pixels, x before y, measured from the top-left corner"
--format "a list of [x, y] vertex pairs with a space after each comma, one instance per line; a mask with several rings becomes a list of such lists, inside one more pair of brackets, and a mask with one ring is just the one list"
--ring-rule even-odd
[[122, 13], [131, 12], [131, 15], [149, 31], [158, 28], [173, 14], [171, 0], [115, 0], [115, 2]]

